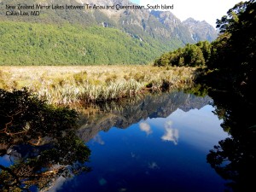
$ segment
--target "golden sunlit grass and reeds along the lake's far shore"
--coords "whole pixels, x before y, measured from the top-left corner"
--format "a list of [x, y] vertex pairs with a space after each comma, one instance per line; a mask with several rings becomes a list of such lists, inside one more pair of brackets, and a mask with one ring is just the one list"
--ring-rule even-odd
[[182, 88], [193, 84], [197, 67], [111, 66], [4, 66], [0, 89], [27, 87], [51, 104], [103, 102], [146, 91]]

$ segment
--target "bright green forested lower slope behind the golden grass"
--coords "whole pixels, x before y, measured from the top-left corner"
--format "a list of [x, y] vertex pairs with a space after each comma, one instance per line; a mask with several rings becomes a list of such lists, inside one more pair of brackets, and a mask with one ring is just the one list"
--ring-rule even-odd
[[[100, 26], [0, 22], [0, 65], [145, 64], [164, 48]], [[153, 44], [154, 43], [154, 44]]]

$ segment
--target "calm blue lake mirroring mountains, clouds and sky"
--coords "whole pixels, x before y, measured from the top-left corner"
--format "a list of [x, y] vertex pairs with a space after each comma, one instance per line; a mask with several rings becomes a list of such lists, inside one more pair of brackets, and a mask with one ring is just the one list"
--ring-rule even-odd
[[[212, 113], [212, 103], [209, 96], [173, 91], [84, 108], [75, 134], [90, 148], [85, 162], [90, 171], [55, 175], [41, 191], [224, 191], [227, 180], [207, 163], [207, 154], [230, 136]], [[27, 151], [35, 148], [23, 145], [13, 145], [0, 165], [34, 157]], [[38, 191], [33, 185], [30, 189]]]

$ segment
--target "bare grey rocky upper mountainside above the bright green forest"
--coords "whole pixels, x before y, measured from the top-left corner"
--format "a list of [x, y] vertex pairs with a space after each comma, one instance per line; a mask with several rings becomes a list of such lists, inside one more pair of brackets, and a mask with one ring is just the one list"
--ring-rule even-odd
[[[148, 9], [117, 9], [119, 6], [138, 6], [129, 0], [23, 0], [26, 4], [40, 3], [43, 5], [84, 5], [85, 9], [48, 9], [40, 10], [38, 17], [7, 17], [0, 13], [0, 20], [17, 20], [25, 22], [70, 23], [82, 26], [103, 26], [119, 29], [132, 38], [148, 44], [165, 44], [166, 50], [177, 49], [185, 44], [198, 41], [212, 41], [217, 38], [216, 30], [206, 21], [192, 18], [181, 22], [172, 12]], [[3, 2], [2, 2], [3, 3]], [[16, 4], [15, 0], [4, 0], [4, 3]], [[20, 0], [22, 3], [22, 0]], [[87, 9], [87, 6], [99, 8]], [[113, 6], [109, 8], [108, 6]], [[108, 7], [108, 9], [107, 9]], [[150, 40], [148, 40], [150, 38]], [[153, 39], [153, 40], [152, 40]], [[155, 41], [155, 42], [154, 42]]]

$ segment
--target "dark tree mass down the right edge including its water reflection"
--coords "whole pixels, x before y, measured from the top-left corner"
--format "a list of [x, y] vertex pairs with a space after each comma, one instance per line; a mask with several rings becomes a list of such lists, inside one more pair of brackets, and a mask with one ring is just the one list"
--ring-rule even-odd
[[256, 171], [255, 20], [256, 3], [251, 0], [236, 4], [217, 21], [221, 35], [207, 62], [212, 73], [199, 79], [211, 86], [208, 95], [214, 100], [214, 113], [230, 134], [207, 154], [207, 162], [232, 189], [227, 191], [255, 190], [251, 177]]

